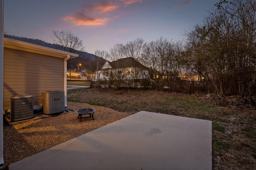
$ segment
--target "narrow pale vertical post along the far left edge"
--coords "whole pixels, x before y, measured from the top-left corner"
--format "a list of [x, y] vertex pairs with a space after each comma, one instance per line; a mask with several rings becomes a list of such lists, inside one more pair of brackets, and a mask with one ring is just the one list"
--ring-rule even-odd
[[0, 168], [4, 167], [4, 0], [0, 0]]

